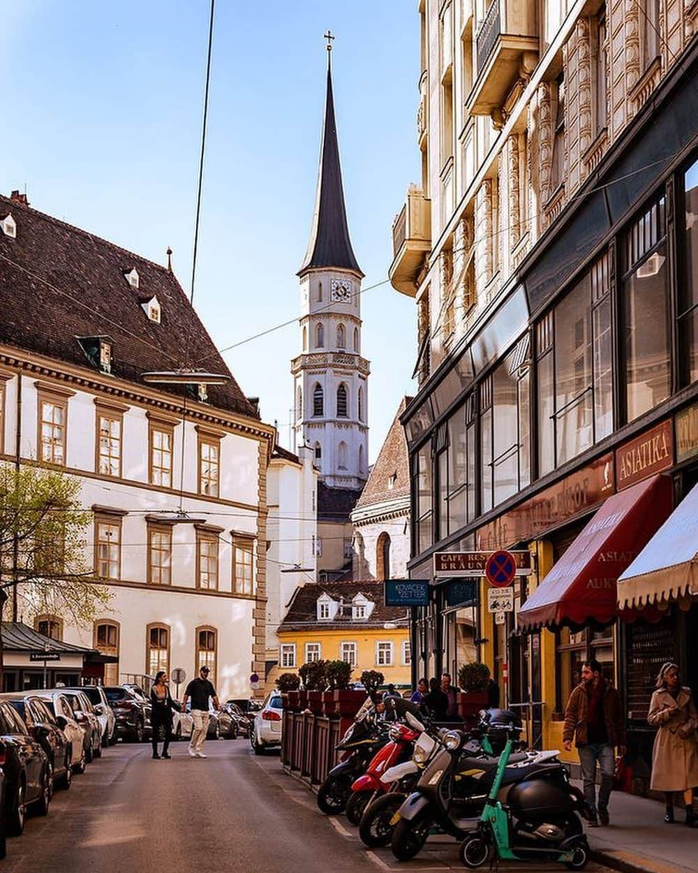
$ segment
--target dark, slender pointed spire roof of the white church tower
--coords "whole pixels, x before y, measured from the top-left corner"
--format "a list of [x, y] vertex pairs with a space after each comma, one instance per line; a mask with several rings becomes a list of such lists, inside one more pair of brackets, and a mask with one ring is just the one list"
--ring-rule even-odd
[[318, 190], [315, 196], [315, 213], [312, 218], [311, 238], [305, 252], [303, 265], [298, 271], [302, 276], [317, 267], [336, 267], [364, 274], [352, 250], [349, 226], [346, 221], [342, 169], [339, 164], [337, 124], [334, 119], [332, 97], [332, 71], [327, 68], [327, 97], [325, 100], [325, 123], [320, 147]]

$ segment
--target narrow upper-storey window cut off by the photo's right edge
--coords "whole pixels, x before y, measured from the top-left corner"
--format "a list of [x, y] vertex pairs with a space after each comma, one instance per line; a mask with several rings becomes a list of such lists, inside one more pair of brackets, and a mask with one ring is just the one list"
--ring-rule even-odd
[[698, 161], [684, 185], [684, 276], [679, 282], [679, 341], [682, 383], [698, 380]]

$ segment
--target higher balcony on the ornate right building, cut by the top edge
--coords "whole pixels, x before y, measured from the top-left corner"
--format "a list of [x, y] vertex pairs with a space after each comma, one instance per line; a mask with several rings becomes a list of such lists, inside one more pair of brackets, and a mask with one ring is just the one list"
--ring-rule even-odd
[[532, 0], [493, 0], [476, 36], [476, 83], [468, 111], [491, 115], [501, 110], [517, 79], [537, 64], [536, 8]]

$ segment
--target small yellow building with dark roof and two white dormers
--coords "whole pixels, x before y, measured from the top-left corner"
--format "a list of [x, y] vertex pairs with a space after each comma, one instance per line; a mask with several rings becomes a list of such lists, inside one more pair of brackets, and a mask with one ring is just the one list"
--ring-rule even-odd
[[307, 661], [352, 664], [352, 681], [379, 670], [386, 683], [410, 685], [411, 652], [404, 608], [383, 605], [376, 582], [308, 584], [296, 589], [278, 629], [278, 671], [297, 672]]

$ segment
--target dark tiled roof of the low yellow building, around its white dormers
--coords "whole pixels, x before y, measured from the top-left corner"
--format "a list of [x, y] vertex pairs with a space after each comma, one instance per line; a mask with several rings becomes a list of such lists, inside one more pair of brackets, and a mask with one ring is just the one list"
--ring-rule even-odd
[[[365, 621], [352, 621], [352, 610], [346, 608], [346, 615], [337, 615], [332, 620], [318, 622], [318, 597], [323, 594], [330, 595], [334, 601], [344, 598], [346, 606], [351, 604], [356, 595], [362, 594], [366, 596], [366, 600], [373, 601], [375, 607], [370, 618]], [[298, 630], [308, 627], [326, 630], [336, 630], [338, 627], [375, 629], [382, 628], [386, 622], [397, 623], [407, 628], [409, 619], [404, 607], [383, 606], [382, 582], [318, 582], [317, 584], [309, 582], [296, 588], [279, 630]]]

